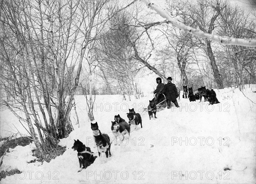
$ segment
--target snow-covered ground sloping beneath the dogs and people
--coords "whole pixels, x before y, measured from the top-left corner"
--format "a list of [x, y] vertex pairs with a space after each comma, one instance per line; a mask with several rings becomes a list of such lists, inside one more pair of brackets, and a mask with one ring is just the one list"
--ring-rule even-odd
[[[255, 85], [246, 86], [246, 97], [237, 88], [215, 90], [221, 102], [215, 105], [181, 98], [180, 108], [163, 109], [151, 120], [143, 110], [152, 94], [131, 102], [118, 95], [96, 96], [93, 113], [102, 133], [113, 139], [111, 120], [117, 114], [127, 120], [128, 108], [141, 113], [143, 128], [133, 130], [122, 144], [112, 144], [110, 158], [97, 158], [79, 173], [77, 152], [71, 149], [74, 139], [94, 152], [97, 148], [86, 99], [76, 96], [80, 127], [72, 117], [75, 130], [59, 143], [67, 146], [64, 154], [42, 165], [28, 164], [35, 159], [31, 156], [35, 146], [18, 146], [4, 157], [1, 170], [16, 167], [23, 173], [7, 176], [1, 183], [255, 183], [256, 93], [252, 91]], [[0, 121], [1, 134], [12, 123], [19, 127], [8, 110], [1, 112]]]

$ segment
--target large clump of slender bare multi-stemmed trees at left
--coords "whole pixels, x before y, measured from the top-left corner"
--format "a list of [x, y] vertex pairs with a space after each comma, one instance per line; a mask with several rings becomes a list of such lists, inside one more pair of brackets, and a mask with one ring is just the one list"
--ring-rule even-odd
[[1, 102], [29, 125], [42, 154], [72, 131], [70, 112], [84, 55], [106, 22], [106, 3], [4, 0], [0, 4]]

